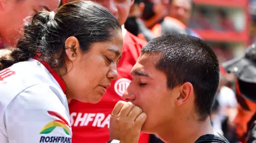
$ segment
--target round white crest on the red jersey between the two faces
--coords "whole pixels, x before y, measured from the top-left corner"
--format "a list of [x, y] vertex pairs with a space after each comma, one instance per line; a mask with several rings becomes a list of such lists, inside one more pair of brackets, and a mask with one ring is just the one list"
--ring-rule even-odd
[[125, 79], [125, 78], [119, 79], [114, 84], [115, 93], [117, 93], [119, 96], [122, 97], [126, 88], [130, 85], [130, 83], [131, 83], [131, 80], [129, 79]]

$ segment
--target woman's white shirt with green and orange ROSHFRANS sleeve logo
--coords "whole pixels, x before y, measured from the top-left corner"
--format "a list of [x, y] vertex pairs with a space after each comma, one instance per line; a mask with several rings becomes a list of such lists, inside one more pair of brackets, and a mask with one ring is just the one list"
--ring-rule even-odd
[[[34, 59], [9, 69], [15, 74], [5, 79], [10, 71], [0, 71], [0, 142], [70, 142], [71, 127], [64, 124], [69, 135], [60, 127], [64, 120], [70, 124], [67, 99], [50, 72]], [[49, 111], [59, 113], [64, 120]], [[53, 121], [52, 132], [40, 134]]]

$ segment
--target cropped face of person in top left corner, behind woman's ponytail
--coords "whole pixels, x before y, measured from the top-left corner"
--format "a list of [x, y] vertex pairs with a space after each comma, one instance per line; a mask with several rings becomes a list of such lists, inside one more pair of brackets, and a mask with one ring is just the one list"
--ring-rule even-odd
[[54, 10], [59, 5], [60, 0], [0, 0], [0, 49], [16, 44], [26, 17], [45, 7]]

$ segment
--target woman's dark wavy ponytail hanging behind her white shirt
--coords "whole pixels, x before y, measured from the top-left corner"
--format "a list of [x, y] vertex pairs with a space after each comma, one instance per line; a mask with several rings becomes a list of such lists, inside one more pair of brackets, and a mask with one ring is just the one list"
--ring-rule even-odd
[[10, 54], [0, 52], [0, 71], [21, 61], [27, 61], [32, 58], [36, 51], [42, 46], [44, 34], [50, 19], [50, 11], [37, 12], [31, 22], [26, 22], [24, 26], [24, 34], [18, 40], [17, 46], [10, 49]]

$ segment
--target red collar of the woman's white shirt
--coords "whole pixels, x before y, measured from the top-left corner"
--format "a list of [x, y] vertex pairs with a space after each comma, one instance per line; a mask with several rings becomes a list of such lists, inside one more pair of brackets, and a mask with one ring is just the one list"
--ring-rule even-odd
[[61, 79], [61, 76], [47, 62], [42, 61], [37, 55], [34, 56], [33, 59], [38, 60], [43, 64], [43, 66], [52, 74], [54, 79], [60, 84], [64, 94], [66, 94], [66, 85], [64, 81]]

